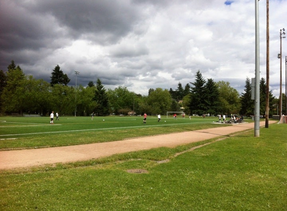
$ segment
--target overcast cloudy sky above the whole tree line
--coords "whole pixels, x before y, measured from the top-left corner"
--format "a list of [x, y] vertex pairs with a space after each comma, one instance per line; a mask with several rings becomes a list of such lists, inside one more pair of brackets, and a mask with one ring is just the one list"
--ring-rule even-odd
[[[243, 92], [255, 76], [254, 0], [1, 0], [0, 69], [13, 59], [51, 81], [59, 64], [69, 85], [176, 89], [197, 70]], [[266, 0], [259, 1], [260, 78], [266, 78]], [[269, 0], [270, 90], [279, 94], [280, 29], [287, 0]], [[282, 83], [287, 40], [282, 38]], [[283, 93], [285, 86], [283, 87]]]

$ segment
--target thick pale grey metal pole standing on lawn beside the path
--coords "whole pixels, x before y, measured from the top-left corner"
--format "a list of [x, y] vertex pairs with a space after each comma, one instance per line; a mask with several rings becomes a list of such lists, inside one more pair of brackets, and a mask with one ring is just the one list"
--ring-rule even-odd
[[254, 137], [259, 137], [260, 131], [260, 70], [259, 70], [259, 8], [255, 0], [255, 104], [254, 104]]

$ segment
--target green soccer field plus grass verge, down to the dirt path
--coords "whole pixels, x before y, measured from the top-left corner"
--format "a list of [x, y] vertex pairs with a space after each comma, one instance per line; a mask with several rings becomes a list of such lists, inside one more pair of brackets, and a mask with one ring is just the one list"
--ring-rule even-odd
[[50, 124], [49, 117], [0, 117], [0, 149], [76, 145], [195, 129], [230, 126], [212, 124], [215, 117], [167, 118], [148, 116], [60, 117]]

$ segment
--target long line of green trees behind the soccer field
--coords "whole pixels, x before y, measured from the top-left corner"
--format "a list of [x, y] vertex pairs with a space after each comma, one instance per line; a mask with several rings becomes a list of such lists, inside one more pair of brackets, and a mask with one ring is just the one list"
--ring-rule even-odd
[[[0, 70], [0, 109], [2, 113], [49, 114], [52, 110], [61, 115], [124, 114], [139, 115], [165, 114], [167, 111], [184, 111], [186, 114], [231, 114], [252, 115], [254, 100], [251, 99], [251, 82], [246, 78], [245, 89], [241, 95], [227, 81], [214, 82], [204, 79], [198, 70], [193, 82], [184, 87], [179, 82], [177, 89], [150, 88], [148, 95], [129, 91], [127, 87], [115, 89], [89, 81], [83, 85], [69, 86], [70, 78], [59, 65], [51, 73], [50, 83], [26, 75], [14, 60], [8, 70]], [[260, 80], [260, 114], [265, 113], [266, 83]], [[285, 99], [285, 97], [283, 97]], [[277, 114], [278, 99], [269, 95], [269, 114]], [[283, 101], [284, 104], [284, 101]], [[283, 108], [284, 112], [284, 108]]]

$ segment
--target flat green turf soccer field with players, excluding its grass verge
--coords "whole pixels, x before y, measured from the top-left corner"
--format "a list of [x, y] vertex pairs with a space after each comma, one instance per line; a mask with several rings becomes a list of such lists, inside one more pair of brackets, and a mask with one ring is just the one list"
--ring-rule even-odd
[[46, 117], [0, 117], [0, 139], [31, 137], [48, 134], [71, 134], [84, 131], [111, 131], [114, 129], [131, 129], [152, 126], [171, 126], [179, 124], [198, 124], [216, 121], [216, 117], [189, 117], [182, 118], [162, 116], [158, 122], [157, 116], [148, 116], [147, 123], [143, 124], [143, 116], [60, 116], [50, 124]]

